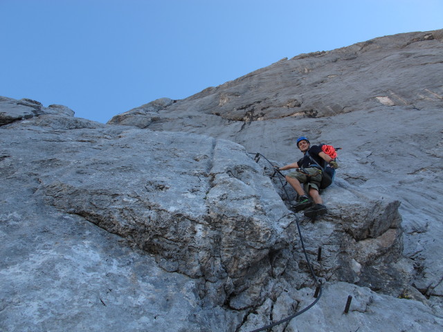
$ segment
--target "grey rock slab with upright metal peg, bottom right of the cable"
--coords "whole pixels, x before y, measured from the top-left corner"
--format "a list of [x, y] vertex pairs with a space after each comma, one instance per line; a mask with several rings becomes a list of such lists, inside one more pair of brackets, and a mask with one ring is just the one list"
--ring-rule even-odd
[[[298, 293], [300, 308], [309, 304], [309, 295], [311, 291]], [[346, 314], [348, 296], [352, 296], [352, 302]], [[442, 317], [422, 302], [392, 299], [369, 288], [340, 282], [327, 286], [322, 301], [292, 320], [286, 331], [309, 331], [312, 324], [318, 331], [440, 331], [442, 322]]]

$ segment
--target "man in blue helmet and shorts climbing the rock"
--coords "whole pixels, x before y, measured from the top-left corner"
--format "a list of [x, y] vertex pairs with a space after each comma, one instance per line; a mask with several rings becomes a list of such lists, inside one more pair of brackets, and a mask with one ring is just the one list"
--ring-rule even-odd
[[[285, 176], [286, 181], [288, 181], [298, 194], [298, 200], [295, 206], [296, 212], [306, 209], [305, 216], [314, 218], [327, 212], [325, 205], [323, 205], [323, 199], [321, 199], [320, 193], [318, 192], [322, 179], [321, 167], [325, 167], [326, 163], [329, 163], [330, 167], [336, 169], [338, 168], [338, 164], [333, 158], [325, 154], [320, 146], [313, 145], [311, 147], [309, 140], [305, 136], [297, 139], [297, 147], [302, 151], [303, 158], [300, 158], [296, 163], [278, 167], [278, 170], [296, 169]], [[321, 167], [319, 167], [319, 165], [321, 165]], [[305, 188], [302, 187], [301, 183], [304, 184]], [[312, 201], [306, 193], [311, 196]]]

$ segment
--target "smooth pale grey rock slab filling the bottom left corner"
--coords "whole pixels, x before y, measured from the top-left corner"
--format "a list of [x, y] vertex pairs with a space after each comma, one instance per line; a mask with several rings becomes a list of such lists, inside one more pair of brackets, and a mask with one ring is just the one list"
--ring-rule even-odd
[[3, 210], [1, 229], [2, 331], [204, 331], [195, 281], [124, 239], [57, 212]]

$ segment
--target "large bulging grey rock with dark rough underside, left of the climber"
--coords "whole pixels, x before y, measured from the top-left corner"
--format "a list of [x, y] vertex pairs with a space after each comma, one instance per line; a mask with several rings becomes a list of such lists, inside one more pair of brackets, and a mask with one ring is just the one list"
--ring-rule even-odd
[[48, 205], [134, 241], [169, 272], [242, 278], [293, 238], [294, 216], [233, 142], [130, 129], [97, 143], [51, 156], [55, 169], [39, 176]]

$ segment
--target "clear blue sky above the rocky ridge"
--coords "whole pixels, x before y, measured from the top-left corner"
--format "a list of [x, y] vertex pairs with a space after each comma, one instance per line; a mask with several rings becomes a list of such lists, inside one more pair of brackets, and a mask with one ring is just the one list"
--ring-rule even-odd
[[443, 28], [443, 0], [0, 0], [0, 95], [107, 122], [283, 57]]

